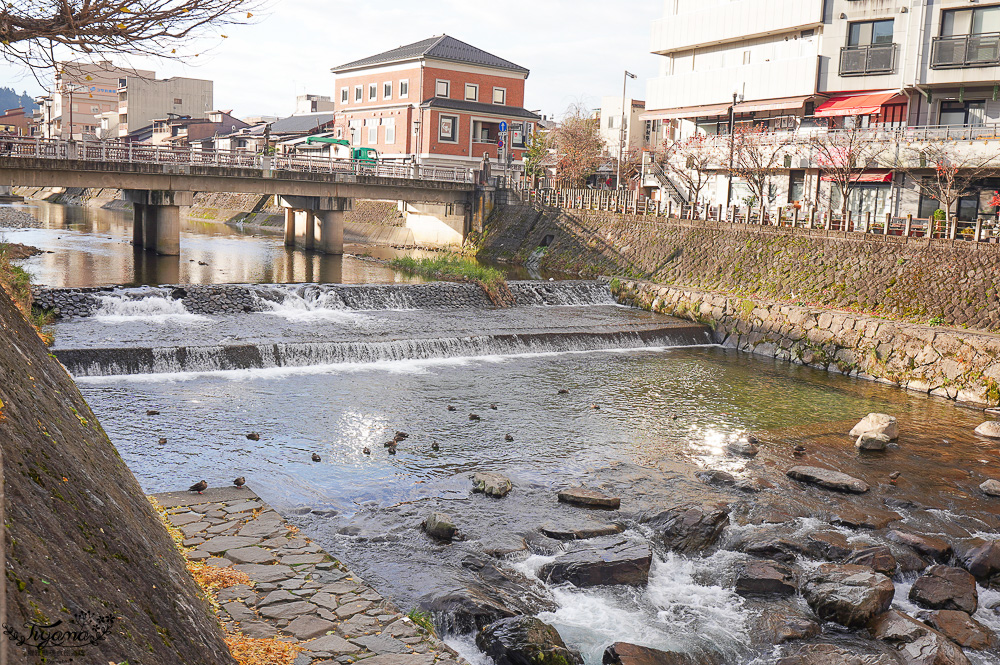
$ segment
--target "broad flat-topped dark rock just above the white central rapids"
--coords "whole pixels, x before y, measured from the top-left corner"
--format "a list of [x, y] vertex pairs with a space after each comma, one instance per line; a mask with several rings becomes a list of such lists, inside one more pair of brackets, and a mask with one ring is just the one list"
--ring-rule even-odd
[[640, 586], [649, 579], [652, 555], [645, 543], [625, 538], [603, 538], [571, 546], [566, 554], [542, 566], [546, 582], [569, 582], [578, 587], [607, 584]]

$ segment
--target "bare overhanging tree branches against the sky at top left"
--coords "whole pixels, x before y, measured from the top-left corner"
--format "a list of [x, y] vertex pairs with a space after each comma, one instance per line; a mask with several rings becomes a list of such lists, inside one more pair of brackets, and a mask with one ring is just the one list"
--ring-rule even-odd
[[79, 56], [176, 57], [181, 46], [210, 30], [248, 22], [259, 6], [257, 0], [4, 2], [0, 53], [32, 69]]

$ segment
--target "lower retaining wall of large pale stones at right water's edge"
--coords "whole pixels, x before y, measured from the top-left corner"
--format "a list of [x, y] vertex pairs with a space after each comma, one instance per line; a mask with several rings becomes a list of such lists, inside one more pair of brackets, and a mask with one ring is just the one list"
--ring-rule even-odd
[[1000, 336], [887, 321], [643, 281], [612, 280], [623, 304], [712, 328], [719, 344], [976, 407], [1000, 405]]

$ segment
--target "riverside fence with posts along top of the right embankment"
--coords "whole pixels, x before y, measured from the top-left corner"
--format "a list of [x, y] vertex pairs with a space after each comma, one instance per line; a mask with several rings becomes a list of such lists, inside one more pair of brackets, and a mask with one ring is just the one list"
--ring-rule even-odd
[[690, 222], [730, 222], [753, 226], [816, 229], [908, 238], [935, 238], [969, 242], [1000, 242], [997, 220], [975, 221], [924, 219], [913, 215], [875, 215], [871, 212], [842, 215], [834, 210], [804, 210], [794, 206], [776, 208], [734, 205], [697, 207], [673, 201], [658, 201], [632, 190], [613, 189], [521, 189], [507, 194], [508, 204], [568, 210], [594, 210]]

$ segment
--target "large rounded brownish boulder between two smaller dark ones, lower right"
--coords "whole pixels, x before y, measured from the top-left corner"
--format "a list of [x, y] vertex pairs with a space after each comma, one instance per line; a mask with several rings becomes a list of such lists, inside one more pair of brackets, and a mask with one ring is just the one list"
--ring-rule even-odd
[[813, 612], [824, 621], [859, 628], [889, 609], [895, 586], [866, 566], [826, 563], [802, 587]]

